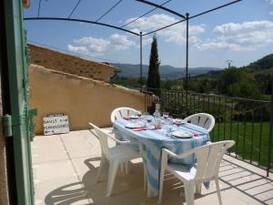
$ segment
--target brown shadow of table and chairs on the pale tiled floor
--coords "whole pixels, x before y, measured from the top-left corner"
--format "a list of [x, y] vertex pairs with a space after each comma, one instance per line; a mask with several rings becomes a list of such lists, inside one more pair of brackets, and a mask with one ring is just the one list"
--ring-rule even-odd
[[[113, 195], [106, 198], [107, 167], [103, 169], [102, 177], [96, 183], [97, 167], [93, 164], [100, 158], [86, 159], [83, 163], [89, 168], [82, 177], [81, 182], [66, 184], [56, 190], [52, 190], [45, 197], [46, 205], [69, 205], [69, 204], [132, 204], [132, 205], [156, 205], [157, 198], [148, 199], [147, 191], [143, 188], [143, 165], [142, 162], [130, 164], [130, 173], [119, 173], [116, 176]], [[185, 201], [184, 190], [181, 182], [173, 176], [166, 176], [165, 193], [162, 205], [177, 205]], [[196, 199], [201, 196], [196, 195]]]

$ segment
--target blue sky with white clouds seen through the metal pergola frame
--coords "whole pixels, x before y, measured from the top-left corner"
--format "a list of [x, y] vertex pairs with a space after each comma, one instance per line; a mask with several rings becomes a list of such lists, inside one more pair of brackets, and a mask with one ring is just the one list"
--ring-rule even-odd
[[[152, 1], [152, 0], [149, 0]], [[153, 0], [162, 4], [167, 0]], [[41, 0], [40, 16], [67, 17], [78, 0]], [[95, 21], [118, 0], [81, 0], [72, 18]], [[231, 0], [172, 0], [165, 6], [180, 14], [197, 15]], [[39, 0], [32, 0], [25, 17], [37, 16]], [[123, 0], [100, 22], [123, 26], [152, 9]], [[146, 33], [180, 20], [157, 9], [125, 28]], [[76, 22], [25, 21], [29, 43], [52, 46], [78, 56], [117, 63], [139, 63], [139, 37], [123, 31]], [[186, 23], [157, 32], [161, 65], [185, 67]], [[143, 59], [148, 63], [153, 35], [143, 38]], [[189, 67], [244, 66], [273, 53], [273, 0], [243, 0], [189, 21]], [[103, 58], [103, 59], [101, 59]], [[106, 59], [106, 60], [104, 60]]]

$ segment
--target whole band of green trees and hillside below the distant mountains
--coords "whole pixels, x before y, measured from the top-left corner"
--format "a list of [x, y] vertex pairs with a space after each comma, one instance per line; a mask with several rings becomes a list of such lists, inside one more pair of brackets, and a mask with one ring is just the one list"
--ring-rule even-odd
[[[160, 71], [161, 74], [161, 71]], [[211, 70], [207, 74], [189, 77], [189, 90], [197, 93], [217, 94], [227, 97], [270, 99], [273, 74], [273, 54], [264, 56], [246, 67], [229, 67]], [[139, 77], [117, 77], [116, 84], [125, 87], [140, 87]], [[143, 77], [142, 85], [147, 85]], [[181, 89], [184, 79], [160, 80], [162, 89]]]

